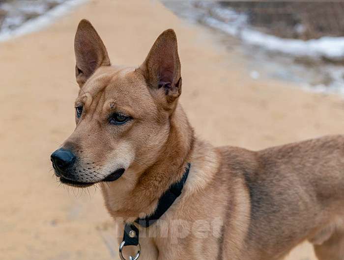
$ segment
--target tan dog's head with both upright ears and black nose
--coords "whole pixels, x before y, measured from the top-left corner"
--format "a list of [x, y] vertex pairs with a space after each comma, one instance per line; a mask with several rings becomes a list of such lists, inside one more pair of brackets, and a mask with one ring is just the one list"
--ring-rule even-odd
[[[75, 36], [76, 128], [51, 155], [62, 183], [85, 187], [113, 182], [131, 168], [154, 164], [167, 142], [181, 93], [177, 39], [164, 31], [138, 68], [111, 66], [93, 26], [82, 20]], [[138, 176], [131, 176], [135, 181]]]

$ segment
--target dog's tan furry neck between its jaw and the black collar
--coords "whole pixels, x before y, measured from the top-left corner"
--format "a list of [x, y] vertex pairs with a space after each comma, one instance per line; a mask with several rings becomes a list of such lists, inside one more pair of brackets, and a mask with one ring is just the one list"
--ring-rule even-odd
[[[170, 118], [170, 133], [155, 163], [147, 167], [126, 196], [123, 207], [108, 210], [113, 217], [134, 221], [154, 212], [159, 198], [185, 171], [194, 144], [194, 132], [180, 105]], [[107, 203], [106, 203], [107, 204]]]

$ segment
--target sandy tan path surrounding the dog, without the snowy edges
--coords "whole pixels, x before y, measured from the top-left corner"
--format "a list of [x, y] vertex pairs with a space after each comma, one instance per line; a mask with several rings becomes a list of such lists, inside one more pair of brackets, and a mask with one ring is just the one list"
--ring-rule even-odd
[[[158, 34], [174, 28], [181, 102], [198, 135], [214, 145], [262, 149], [343, 133], [341, 99], [249, 78], [247, 60], [158, 1], [91, 1], [44, 31], [0, 45], [1, 260], [117, 259], [99, 190], [59, 186], [49, 159], [74, 129], [73, 39], [82, 18], [98, 29], [114, 64], [141, 64]], [[288, 257], [314, 259], [307, 243]]]

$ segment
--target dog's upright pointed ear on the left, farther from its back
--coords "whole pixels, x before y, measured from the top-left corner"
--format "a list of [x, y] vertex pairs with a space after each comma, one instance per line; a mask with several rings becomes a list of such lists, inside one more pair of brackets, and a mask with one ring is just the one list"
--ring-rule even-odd
[[90, 22], [80, 21], [74, 40], [75, 75], [82, 87], [86, 80], [101, 66], [110, 66], [108, 52]]

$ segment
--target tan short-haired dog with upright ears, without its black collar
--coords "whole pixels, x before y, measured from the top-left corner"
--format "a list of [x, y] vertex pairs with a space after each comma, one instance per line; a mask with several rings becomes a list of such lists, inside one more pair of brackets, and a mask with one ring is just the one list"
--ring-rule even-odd
[[[52, 155], [62, 183], [100, 183], [122, 234], [124, 222], [155, 212], [191, 165], [181, 195], [160, 219], [149, 228], [135, 224], [140, 259], [278, 260], [308, 239], [319, 260], [344, 260], [343, 136], [259, 152], [196, 139], [178, 104], [172, 29], [140, 67], [121, 68], [111, 66], [83, 20], [75, 54], [77, 126]], [[123, 255], [137, 251], [128, 246]]]

